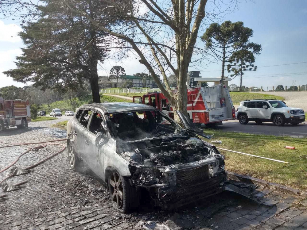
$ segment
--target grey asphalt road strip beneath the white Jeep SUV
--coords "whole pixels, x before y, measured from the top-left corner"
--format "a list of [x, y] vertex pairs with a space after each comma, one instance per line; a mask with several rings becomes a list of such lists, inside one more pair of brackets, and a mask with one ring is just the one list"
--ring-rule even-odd
[[307, 136], [307, 122], [294, 126], [289, 124], [282, 127], [277, 127], [271, 122], [263, 122], [261, 125], [257, 125], [256, 122], [250, 121], [247, 123], [247, 125], [241, 125], [238, 120], [231, 120], [223, 121], [223, 125], [219, 125], [215, 129], [224, 132], [246, 132], [274, 136], [291, 136], [296, 138], [303, 138]]

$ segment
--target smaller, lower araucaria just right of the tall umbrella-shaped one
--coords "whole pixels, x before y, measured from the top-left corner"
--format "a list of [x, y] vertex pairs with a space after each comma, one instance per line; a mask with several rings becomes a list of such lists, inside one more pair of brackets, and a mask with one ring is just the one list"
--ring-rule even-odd
[[253, 63], [255, 62], [254, 54], [259, 55], [262, 51], [262, 46], [255, 43], [246, 43], [244, 46], [235, 51], [229, 58], [229, 64], [227, 65], [227, 71], [232, 72], [230, 76], [240, 76], [240, 91], [242, 91], [242, 76], [244, 71], [256, 71], [257, 66]]

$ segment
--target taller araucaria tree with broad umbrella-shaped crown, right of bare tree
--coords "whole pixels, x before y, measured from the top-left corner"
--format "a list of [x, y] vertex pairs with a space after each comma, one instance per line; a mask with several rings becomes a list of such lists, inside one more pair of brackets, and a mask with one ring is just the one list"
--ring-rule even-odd
[[224, 79], [225, 65], [234, 52], [242, 49], [253, 36], [253, 30], [244, 27], [242, 21], [224, 21], [221, 25], [212, 23], [201, 39], [216, 60], [222, 62], [221, 80]]

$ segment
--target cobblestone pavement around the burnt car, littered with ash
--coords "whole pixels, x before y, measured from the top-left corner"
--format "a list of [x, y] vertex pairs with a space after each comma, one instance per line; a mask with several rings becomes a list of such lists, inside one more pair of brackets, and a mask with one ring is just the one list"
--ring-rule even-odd
[[[65, 131], [50, 128], [57, 121], [32, 122], [26, 129], [9, 129], [0, 140], [40, 142], [65, 137]], [[60, 142], [65, 144], [65, 141]], [[1, 144], [0, 144], [1, 145]], [[25, 146], [0, 148], [0, 170], [27, 149]], [[14, 167], [25, 168], [60, 149], [47, 146], [22, 156]], [[0, 189], [0, 229], [143, 229], [146, 221], [164, 223], [171, 229], [307, 229], [307, 200], [259, 187], [255, 194], [262, 205], [224, 192], [177, 211], [161, 211], [144, 201], [138, 212], [118, 213], [106, 187], [92, 175], [70, 170], [67, 150], [27, 174], [8, 179], [20, 189], [4, 193]], [[14, 169], [8, 170], [13, 171]], [[0, 174], [2, 180], [8, 173]]]

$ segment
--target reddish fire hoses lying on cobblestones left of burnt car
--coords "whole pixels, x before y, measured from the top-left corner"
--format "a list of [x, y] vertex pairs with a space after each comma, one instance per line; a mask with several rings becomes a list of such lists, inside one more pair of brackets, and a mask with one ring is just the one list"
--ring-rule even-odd
[[[45, 141], [45, 142], [33, 142], [33, 143], [6, 143], [6, 142], [3, 142], [3, 141], [0, 141], [0, 143], [2, 144], [8, 144], [6, 146], [0, 146], [0, 148], [8, 148], [8, 147], [14, 147], [14, 146], [22, 146], [22, 145], [30, 145], [30, 144], [43, 144], [41, 146], [37, 146], [37, 147], [33, 147], [33, 148], [28, 148], [27, 151], [21, 153], [16, 159], [14, 162], [12, 162], [9, 166], [5, 167], [4, 169], [2, 169], [0, 171], [0, 173], [6, 171], [7, 169], [9, 169], [10, 167], [12, 167], [15, 163], [17, 163], [17, 161], [20, 159], [21, 156], [25, 155], [26, 153], [28, 153], [29, 151], [33, 150], [33, 149], [40, 149], [40, 148], [45, 148], [47, 145], [59, 145], [62, 147], [62, 149], [60, 151], [57, 151], [56, 153], [50, 155], [49, 157], [29, 166], [29, 167], [26, 167], [24, 170], [29, 170], [29, 169], [32, 169], [34, 167], [37, 167], [38, 165], [44, 163], [45, 161], [51, 159], [52, 157], [55, 157], [56, 155], [60, 154], [61, 152], [63, 152], [65, 150], [65, 145], [64, 144], [58, 144], [58, 143], [50, 143], [50, 142], [56, 142], [56, 141], [66, 141], [66, 139], [60, 139], [60, 140], [51, 140], [51, 141]], [[15, 172], [8, 175], [6, 178], [4, 178], [2, 181], [0, 181], [0, 185], [8, 178], [11, 178], [15, 175]], [[18, 174], [17, 174], [18, 175]], [[22, 184], [23, 182], [19, 183], [18, 185]], [[1, 196], [3, 197], [3, 195]], [[0, 198], [1, 198], [0, 197]]]

